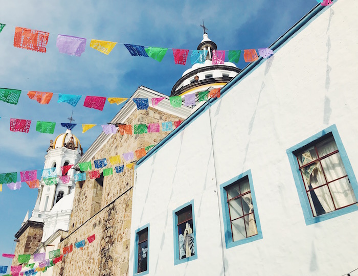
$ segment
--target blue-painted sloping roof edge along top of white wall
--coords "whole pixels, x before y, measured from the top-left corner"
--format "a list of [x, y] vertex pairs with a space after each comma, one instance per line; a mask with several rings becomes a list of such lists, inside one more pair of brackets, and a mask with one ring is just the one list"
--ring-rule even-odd
[[[333, 0], [334, 1], [334, 0]], [[332, 5], [337, 1], [334, 1]], [[283, 35], [281, 35], [274, 43], [272, 43], [269, 48], [275, 52], [279, 50], [279, 48], [295, 33], [297, 33], [302, 27], [304, 27], [307, 22], [314, 18], [316, 15], [318, 15], [320, 12], [322, 12], [325, 8], [331, 7], [330, 6], [322, 6], [321, 4], [317, 4], [313, 9], [311, 9], [305, 16], [303, 16], [294, 26], [288, 29]], [[265, 59], [262, 57], [259, 57], [257, 61], [251, 62], [246, 67], [242, 69], [242, 71], [236, 75], [228, 84], [223, 86], [221, 88], [221, 97], [225, 96], [226, 92], [233, 87], [236, 83], [238, 83], [241, 79], [243, 79], [246, 75], [248, 75], [256, 66], [263, 63]], [[220, 98], [221, 98], [220, 97]], [[143, 156], [141, 159], [137, 161], [137, 164], [135, 165], [135, 168], [139, 167], [146, 159], [148, 159], [152, 154], [157, 152], [162, 145], [164, 145], [166, 142], [168, 142], [173, 136], [175, 136], [178, 132], [180, 132], [186, 125], [188, 125], [191, 121], [193, 121], [197, 116], [199, 116], [200, 113], [205, 111], [209, 108], [210, 104], [217, 101], [220, 98], [213, 98], [209, 99], [205, 104], [200, 106], [197, 110], [195, 110], [191, 116], [188, 117], [183, 123], [181, 123], [177, 128], [175, 128], [172, 132], [170, 132], [164, 139], [156, 144], [153, 148], [150, 149], [150, 151]]]

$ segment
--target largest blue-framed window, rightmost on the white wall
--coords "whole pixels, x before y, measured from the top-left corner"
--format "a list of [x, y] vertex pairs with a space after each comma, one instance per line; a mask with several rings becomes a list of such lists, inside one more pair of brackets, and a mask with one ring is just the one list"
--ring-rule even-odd
[[358, 185], [337, 127], [287, 149], [306, 225], [358, 210]]

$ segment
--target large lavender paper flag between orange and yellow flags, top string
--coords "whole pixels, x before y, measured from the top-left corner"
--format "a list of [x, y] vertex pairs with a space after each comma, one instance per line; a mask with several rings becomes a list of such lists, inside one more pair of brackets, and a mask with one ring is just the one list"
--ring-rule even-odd
[[58, 35], [56, 46], [62, 54], [80, 57], [86, 48], [86, 39], [70, 35]]

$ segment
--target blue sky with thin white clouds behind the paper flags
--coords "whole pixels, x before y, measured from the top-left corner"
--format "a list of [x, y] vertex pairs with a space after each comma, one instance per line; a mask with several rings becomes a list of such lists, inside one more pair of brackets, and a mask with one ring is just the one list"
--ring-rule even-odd
[[[176, 65], [171, 50], [162, 62], [151, 58], [131, 57], [117, 44], [104, 55], [89, 48], [91, 39], [152, 47], [196, 50], [202, 40], [202, 19], [209, 37], [218, 50], [240, 50], [269, 46], [302, 18], [317, 2], [297, 1], [1, 1], [0, 23], [7, 24], [0, 33], [0, 87], [24, 90], [17, 105], [0, 101], [0, 173], [42, 169], [49, 141], [64, 132], [59, 123], [74, 111], [78, 124], [109, 122], [122, 105], [105, 104], [103, 111], [83, 107], [84, 97], [76, 107], [57, 103], [54, 95], [49, 105], [40, 105], [27, 97], [28, 90], [102, 97], [130, 97], [139, 85], [170, 95], [175, 82], [187, 70]], [[50, 33], [47, 53], [13, 47], [15, 26]], [[87, 38], [81, 57], [58, 53], [57, 34]], [[190, 53], [189, 53], [190, 54]], [[295, 53], [292, 53], [293, 55]], [[238, 67], [245, 65], [243, 59]], [[7, 118], [33, 120], [29, 133], [11, 132]], [[54, 134], [36, 132], [36, 121], [58, 122]], [[100, 134], [97, 126], [82, 134], [73, 129], [86, 150]], [[103, 156], [107, 157], [107, 156]], [[19, 180], [19, 179], [18, 179]], [[14, 234], [27, 210], [32, 211], [37, 190], [26, 184], [19, 191], [6, 185], [0, 193], [0, 254], [12, 253]], [[0, 265], [10, 259], [0, 257]], [[9, 271], [9, 270], [8, 270]]]

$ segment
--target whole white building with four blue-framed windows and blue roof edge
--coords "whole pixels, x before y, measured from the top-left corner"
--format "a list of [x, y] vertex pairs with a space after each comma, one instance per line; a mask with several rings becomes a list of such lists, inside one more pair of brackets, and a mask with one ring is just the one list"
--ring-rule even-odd
[[357, 9], [312, 9], [139, 160], [129, 275], [358, 267]]

